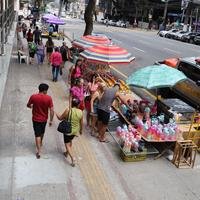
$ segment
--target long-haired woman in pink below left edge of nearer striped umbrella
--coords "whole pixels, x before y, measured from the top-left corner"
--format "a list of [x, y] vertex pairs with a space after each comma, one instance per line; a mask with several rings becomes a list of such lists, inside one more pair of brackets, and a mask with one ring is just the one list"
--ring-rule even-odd
[[75, 66], [73, 65], [69, 70], [69, 77], [68, 77], [68, 83], [73, 86], [78, 79], [80, 79], [83, 76], [82, 72], [82, 60], [78, 59], [76, 61]]

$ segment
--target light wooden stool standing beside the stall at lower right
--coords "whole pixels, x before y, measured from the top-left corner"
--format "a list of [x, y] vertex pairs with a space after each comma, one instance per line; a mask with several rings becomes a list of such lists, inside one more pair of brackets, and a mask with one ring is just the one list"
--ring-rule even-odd
[[192, 140], [177, 141], [172, 163], [177, 168], [193, 168], [196, 159], [197, 146]]

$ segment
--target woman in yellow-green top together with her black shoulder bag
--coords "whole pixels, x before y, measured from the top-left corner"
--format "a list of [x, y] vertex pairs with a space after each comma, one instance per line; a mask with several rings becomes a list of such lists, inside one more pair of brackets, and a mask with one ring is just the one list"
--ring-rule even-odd
[[58, 126], [58, 131], [63, 133], [66, 148], [66, 151], [63, 153], [63, 155], [65, 157], [68, 155], [70, 156], [72, 167], [75, 166], [75, 159], [72, 155], [72, 140], [75, 136], [82, 134], [83, 130], [83, 111], [79, 109], [79, 104], [80, 101], [76, 98], [73, 98], [71, 109], [67, 108], [62, 115], [56, 114], [57, 118], [62, 121]]

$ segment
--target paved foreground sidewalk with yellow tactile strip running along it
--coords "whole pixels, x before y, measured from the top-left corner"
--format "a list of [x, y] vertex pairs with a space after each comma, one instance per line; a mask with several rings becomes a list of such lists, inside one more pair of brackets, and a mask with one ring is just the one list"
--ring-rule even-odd
[[200, 157], [194, 169], [179, 170], [164, 157], [124, 163], [112, 138], [103, 144], [87, 127], [74, 140], [77, 166], [62, 155], [58, 121], [47, 127], [41, 159], [35, 158], [29, 96], [49, 84], [55, 111], [68, 104], [67, 63], [63, 77], [51, 81], [46, 64], [18, 64], [11, 58], [0, 109], [0, 199], [2, 200], [199, 200]]

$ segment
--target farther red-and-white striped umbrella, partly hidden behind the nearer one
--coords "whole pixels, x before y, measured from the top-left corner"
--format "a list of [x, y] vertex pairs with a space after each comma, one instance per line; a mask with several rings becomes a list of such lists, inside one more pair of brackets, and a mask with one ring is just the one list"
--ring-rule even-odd
[[86, 35], [80, 39], [74, 40], [72, 45], [79, 49], [87, 49], [95, 45], [110, 44], [111, 41], [106, 36], [100, 35]]

